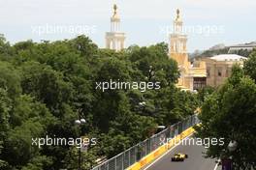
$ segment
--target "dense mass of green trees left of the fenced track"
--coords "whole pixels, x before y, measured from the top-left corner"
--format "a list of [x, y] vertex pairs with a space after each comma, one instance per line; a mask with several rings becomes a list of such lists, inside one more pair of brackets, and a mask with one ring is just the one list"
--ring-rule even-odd
[[[97, 138], [82, 153], [83, 169], [169, 126], [198, 106], [195, 95], [176, 89], [179, 72], [168, 46], [100, 49], [85, 36], [57, 42], [0, 39], [0, 169], [76, 169], [76, 146], [31, 145], [36, 137]], [[96, 89], [96, 82], [160, 82], [156, 90]], [[144, 103], [143, 105], [140, 103]], [[192, 106], [192, 107], [191, 107]]]

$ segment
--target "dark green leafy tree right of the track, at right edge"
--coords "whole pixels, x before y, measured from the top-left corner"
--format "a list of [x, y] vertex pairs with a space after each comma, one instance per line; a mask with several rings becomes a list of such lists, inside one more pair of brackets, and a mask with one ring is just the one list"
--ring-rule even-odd
[[[232, 76], [210, 97], [202, 107], [200, 120], [196, 127], [197, 135], [203, 138], [224, 138], [224, 145], [210, 145], [207, 156], [228, 158], [232, 156], [234, 169], [255, 168], [256, 147], [256, 85], [243, 76], [239, 66], [233, 68]], [[228, 151], [230, 141], [238, 142], [235, 152]]]

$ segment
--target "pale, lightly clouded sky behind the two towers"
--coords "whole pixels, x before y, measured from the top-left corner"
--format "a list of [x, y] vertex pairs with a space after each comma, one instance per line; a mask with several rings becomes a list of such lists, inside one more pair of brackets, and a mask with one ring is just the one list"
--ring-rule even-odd
[[0, 34], [8, 42], [87, 35], [100, 47], [118, 7], [126, 46], [169, 42], [180, 10], [188, 51], [256, 41], [255, 0], [0, 0]]

